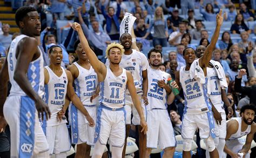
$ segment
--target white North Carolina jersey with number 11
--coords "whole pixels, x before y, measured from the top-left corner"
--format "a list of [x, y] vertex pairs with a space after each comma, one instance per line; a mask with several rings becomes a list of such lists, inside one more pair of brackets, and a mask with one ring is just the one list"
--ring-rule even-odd
[[106, 68], [106, 78], [100, 83], [99, 102], [110, 108], [122, 108], [127, 83], [126, 70], [122, 68], [122, 74], [116, 77], [109, 66], [106, 66]]

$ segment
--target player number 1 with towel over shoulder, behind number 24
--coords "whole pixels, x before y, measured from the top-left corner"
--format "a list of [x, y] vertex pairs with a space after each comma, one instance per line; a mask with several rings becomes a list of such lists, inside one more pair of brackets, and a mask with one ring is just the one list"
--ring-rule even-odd
[[[205, 50], [206, 50], [205, 46], [203, 45], [198, 46], [196, 49], [197, 58], [202, 57]], [[223, 107], [223, 102], [227, 106], [229, 117], [233, 115], [233, 109], [226, 95], [225, 88], [227, 88], [227, 85], [226, 87], [220, 86], [220, 80], [223, 81], [224, 83], [227, 83], [227, 81], [225, 78], [225, 72], [221, 64], [217, 62], [218, 61], [210, 60], [210, 63], [207, 66], [207, 78], [211, 87], [210, 100], [213, 104], [213, 107], [216, 108], [216, 110], [218, 111], [216, 113], [213, 113], [214, 121], [215, 121], [215, 135], [216, 135], [216, 138], [214, 139], [214, 143], [215, 143], [215, 147], [218, 150], [219, 157], [222, 157], [222, 153], [225, 146], [226, 131], [227, 131], [226, 130], [226, 113]], [[216, 63], [217, 65], [213, 65], [213, 63]], [[220, 77], [218, 76], [217, 71], [219, 71], [219, 73], [222, 73], [220, 74]], [[208, 150], [206, 150], [206, 156], [207, 157], [210, 156]]]

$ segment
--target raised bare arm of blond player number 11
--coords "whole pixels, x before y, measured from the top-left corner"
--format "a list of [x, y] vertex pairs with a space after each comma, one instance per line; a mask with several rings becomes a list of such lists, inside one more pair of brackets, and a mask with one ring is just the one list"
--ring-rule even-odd
[[103, 74], [104, 72], [106, 73], [106, 66], [101, 61], [99, 61], [96, 54], [91, 50], [89, 43], [87, 42], [87, 39], [84, 36], [81, 25], [78, 23], [73, 23], [72, 28], [77, 31], [80, 42], [83, 46], [86, 56], [90, 60], [93, 69], [100, 74]]

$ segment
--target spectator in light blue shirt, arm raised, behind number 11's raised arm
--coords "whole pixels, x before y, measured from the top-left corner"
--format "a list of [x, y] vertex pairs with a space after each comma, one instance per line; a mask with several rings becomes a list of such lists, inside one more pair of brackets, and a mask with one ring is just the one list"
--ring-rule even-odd
[[87, 39], [89, 39], [90, 45], [95, 50], [95, 54], [97, 56], [103, 55], [103, 50], [106, 49], [107, 44], [111, 43], [111, 39], [107, 33], [99, 30], [99, 22], [98, 21], [92, 21], [92, 29], [89, 30], [87, 25], [85, 25], [82, 14], [81, 14], [81, 8], [78, 9], [78, 17], [79, 17], [79, 23], [82, 26], [84, 35]]

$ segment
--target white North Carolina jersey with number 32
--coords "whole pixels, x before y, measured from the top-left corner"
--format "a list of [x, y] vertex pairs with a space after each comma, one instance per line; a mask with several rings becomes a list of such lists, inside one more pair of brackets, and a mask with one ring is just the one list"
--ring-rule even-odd
[[147, 70], [147, 79], [149, 83], [149, 88], [147, 90], [147, 99], [149, 100], [149, 105], [147, 105], [147, 111], [150, 109], [167, 109], [167, 94], [164, 88], [158, 86], [158, 80], [165, 80], [167, 84], [167, 79], [170, 74], [149, 68]]

